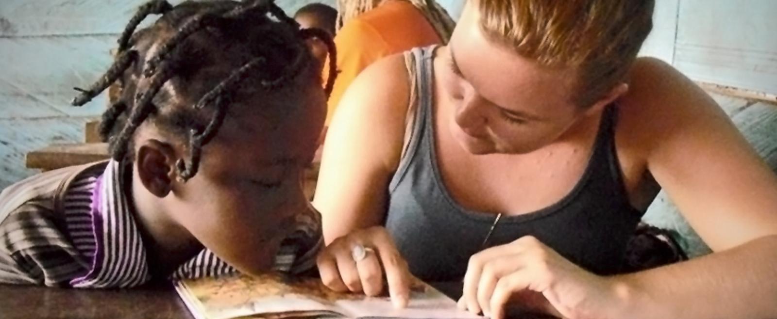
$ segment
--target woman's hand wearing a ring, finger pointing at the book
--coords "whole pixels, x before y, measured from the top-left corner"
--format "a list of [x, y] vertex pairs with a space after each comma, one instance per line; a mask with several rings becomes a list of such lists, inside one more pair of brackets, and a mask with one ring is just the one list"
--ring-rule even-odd
[[405, 259], [384, 227], [369, 227], [337, 238], [319, 254], [322, 282], [338, 292], [383, 292], [384, 274], [395, 307], [405, 307], [413, 283]]

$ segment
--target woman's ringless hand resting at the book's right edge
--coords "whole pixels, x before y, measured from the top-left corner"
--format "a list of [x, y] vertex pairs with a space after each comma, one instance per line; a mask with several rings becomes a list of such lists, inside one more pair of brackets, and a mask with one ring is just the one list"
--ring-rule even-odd
[[472, 255], [458, 305], [498, 319], [511, 300], [570, 318], [606, 317], [598, 312], [607, 309], [601, 306], [616, 305], [609, 279], [580, 269], [531, 236]]

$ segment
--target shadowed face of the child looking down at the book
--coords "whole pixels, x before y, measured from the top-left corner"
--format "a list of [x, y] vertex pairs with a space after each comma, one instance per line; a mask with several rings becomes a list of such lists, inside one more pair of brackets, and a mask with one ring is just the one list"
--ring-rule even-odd
[[326, 117], [326, 97], [317, 78], [298, 82], [305, 83], [230, 106], [218, 134], [203, 147], [200, 172], [172, 186], [176, 220], [242, 272], [273, 265], [299, 214], [319, 220], [302, 182]]

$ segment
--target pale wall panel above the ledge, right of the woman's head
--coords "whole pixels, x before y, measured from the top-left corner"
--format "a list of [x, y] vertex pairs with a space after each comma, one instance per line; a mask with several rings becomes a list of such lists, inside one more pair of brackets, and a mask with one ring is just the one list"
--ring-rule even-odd
[[775, 0], [656, 0], [642, 54], [695, 81], [777, 95], [775, 17]]

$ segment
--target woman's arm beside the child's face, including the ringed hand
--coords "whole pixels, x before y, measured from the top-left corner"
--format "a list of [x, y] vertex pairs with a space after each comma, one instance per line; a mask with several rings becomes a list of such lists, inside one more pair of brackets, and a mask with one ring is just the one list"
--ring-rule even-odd
[[[327, 133], [313, 201], [327, 244], [317, 259], [323, 283], [375, 296], [385, 278], [399, 307], [407, 303], [412, 276], [380, 224], [402, 151], [406, 79], [400, 54], [371, 65], [350, 85]], [[354, 255], [357, 247], [366, 256]]]

